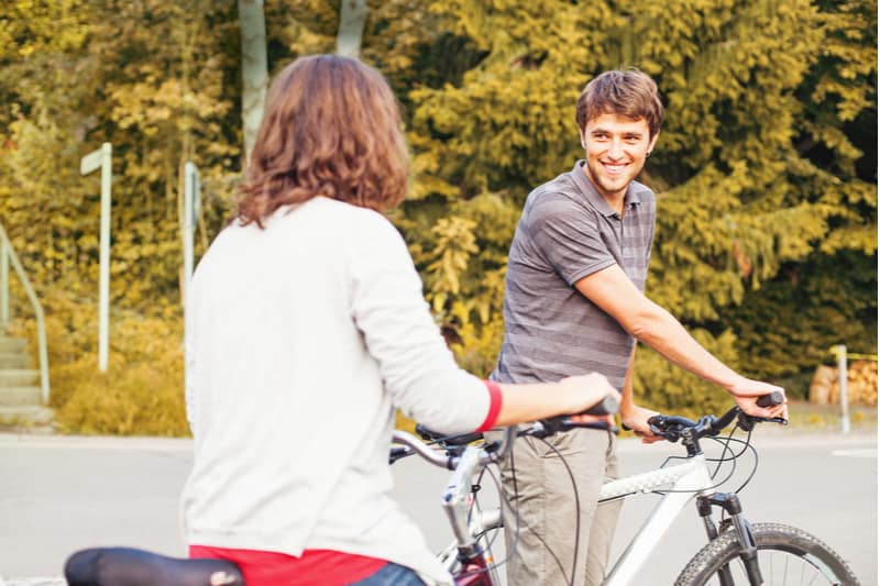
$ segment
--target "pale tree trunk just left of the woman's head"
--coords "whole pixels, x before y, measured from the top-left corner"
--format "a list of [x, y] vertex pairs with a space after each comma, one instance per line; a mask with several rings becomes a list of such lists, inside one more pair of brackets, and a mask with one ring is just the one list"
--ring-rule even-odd
[[241, 26], [241, 118], [246, 168], [251, 161], [256, 131], [263, 120], [263, 106], [268, 87], [263, 0], [239, 0], [239, 25]]

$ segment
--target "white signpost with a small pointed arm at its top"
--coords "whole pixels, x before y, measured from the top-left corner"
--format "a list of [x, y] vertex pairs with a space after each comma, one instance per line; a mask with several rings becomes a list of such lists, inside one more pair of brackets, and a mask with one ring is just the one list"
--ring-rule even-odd
[[108, 338], [110, 332], [110, 192], [113, 180], [113, 147], [103, 143], [79, 163], [79, 173], [89, 173], [101, 168], [101, 228], [100, 228], [100, 267], [98, 279], [98, 369], [107, 372]]

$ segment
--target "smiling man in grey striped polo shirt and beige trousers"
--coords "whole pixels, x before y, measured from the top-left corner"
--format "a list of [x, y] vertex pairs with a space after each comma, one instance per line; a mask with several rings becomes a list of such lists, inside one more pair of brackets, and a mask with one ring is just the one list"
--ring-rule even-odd
[[[751, 414], [785, 409], [758, 407], [758, 396], [781, 389], [725, 366], [642, 294], [656, 200], [635, 178], [657, 144], [662, 115], [657, 85], [641, 71], [607, 71], [584, 88], [576, 109], [584, 161], [526, 201], [510, 246], [504, 344], [492, 375], [534, 383], [601, 373], [623, 394], [623, 423], [646, 442], [659, 438], [647, 424], [653, 411], [632, 402], [634, 339], [723, 387]], [[576, 430], [550, 444], [518, 441], [502, 471], [517, 511], [505, 518], [508, 543], [517, 540], [508, 584], [601, 584], [619, 512], [619, 504], [596, 502], [604, 478], [617, 475], [614, 436]]]

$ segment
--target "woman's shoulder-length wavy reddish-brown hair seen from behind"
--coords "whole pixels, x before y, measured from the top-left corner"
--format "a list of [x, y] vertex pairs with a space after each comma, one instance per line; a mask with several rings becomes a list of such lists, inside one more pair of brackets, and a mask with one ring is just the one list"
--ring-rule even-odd
[[300, 57], [268, 90], [238, 218], [263, 226], [282, 206], [317, 196], [385, 210], [407, 191], [400, 111], [382, 74], [336, 55]]

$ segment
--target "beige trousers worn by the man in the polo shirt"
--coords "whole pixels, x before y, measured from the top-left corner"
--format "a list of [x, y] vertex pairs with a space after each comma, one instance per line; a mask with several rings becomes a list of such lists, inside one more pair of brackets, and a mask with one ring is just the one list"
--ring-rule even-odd
[[508, 551], [516, 541], [506, 564], [508, 586], [602, 584], [622, 501], [598, 506], [598, 493], [606, 478], [616, 477], [615, 439], [606, 431], [516, 441], [502, 465], [504, 493], [513, 505], [513, 510], [503, 507]]

